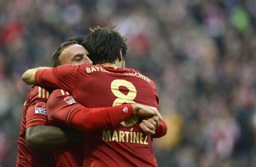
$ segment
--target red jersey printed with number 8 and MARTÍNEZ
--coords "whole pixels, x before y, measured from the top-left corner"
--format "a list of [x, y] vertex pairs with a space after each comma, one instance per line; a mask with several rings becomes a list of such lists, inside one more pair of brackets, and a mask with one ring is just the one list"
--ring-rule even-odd
[[[35, 81], [69, 91], [75, 100], [89, 108], [134, 102], [158, 108], [154, 83], [134, 69], [63, 65], [38, 70]], [[164, 126], [158, 127], [166, 131]], [[83, 166], [157, 166], [152, 136], [143, 136], [137, 117], [109, 130], [84, 133], [83, 138]]]

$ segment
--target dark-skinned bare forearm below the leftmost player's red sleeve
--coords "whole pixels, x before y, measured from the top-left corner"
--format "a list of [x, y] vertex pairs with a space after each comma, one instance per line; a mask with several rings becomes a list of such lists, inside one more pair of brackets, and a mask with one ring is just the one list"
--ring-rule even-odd
[[81, 133], [69, 127], [35, 125], [26, 129], [25, 139], [29, 148], [50, 148], [79, 141]]

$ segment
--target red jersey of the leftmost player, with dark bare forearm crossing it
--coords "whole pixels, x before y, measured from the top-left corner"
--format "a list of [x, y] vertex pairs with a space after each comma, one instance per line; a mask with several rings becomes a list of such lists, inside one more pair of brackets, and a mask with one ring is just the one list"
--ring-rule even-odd
[[46, 125], [46, 101], [49, 92], [42, 87], [29, 89], [23, 106], [23, 116], [18, 136], [16, 166], [55, 166], [50, 149], [30, 149], [25, 143], [25, 131], [29, 126]]

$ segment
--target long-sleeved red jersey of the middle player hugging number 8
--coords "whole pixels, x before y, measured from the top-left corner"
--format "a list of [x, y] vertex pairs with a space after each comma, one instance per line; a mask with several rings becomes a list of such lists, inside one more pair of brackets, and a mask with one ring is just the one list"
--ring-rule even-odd
[[[127, 113], [122, 111], [125, 107], [128, 109]], [[51, 124], [71, 127], [76, 127], [78, 124], [86, 132], [108, 129], [131, 115], [133, 115], [133, 109], [129, 104], [109, 108], [85, 108], [62, 89], [54, 90], [47, 101], [47, 116]], [[77, 120], [76, 117], [84, 119], [78, 119], [75, 122], [73, 119]], [[84, 125], [79, 125], [80, 123], [84, 123]], [[82, 166], [82, 145], [82, 142], [76, 142], [52, 148], [56, 166]]]

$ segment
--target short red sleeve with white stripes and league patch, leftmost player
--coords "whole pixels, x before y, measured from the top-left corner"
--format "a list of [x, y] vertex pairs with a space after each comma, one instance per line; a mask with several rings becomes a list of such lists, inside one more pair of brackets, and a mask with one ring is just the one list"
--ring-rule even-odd
[[46, 102], [49, 96], [49, 92], [42, 87], [34, 86], [32, 87], [30, 98], [26, 101], [26, 124], [25, 127], [34, 125], [46, 125]]

